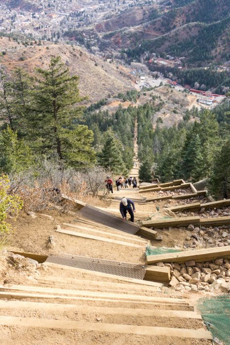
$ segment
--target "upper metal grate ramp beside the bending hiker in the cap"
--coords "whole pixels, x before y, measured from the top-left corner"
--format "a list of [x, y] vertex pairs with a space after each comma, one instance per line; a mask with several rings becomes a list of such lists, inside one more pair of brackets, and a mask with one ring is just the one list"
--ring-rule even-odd
[[80, 214], [86, 219], [90, 219], [96, 223], [110, 226], [114, 229], [121, 230], [132, 235], [134, 235], [140, 229], [137, 224], [123, 222], [121, 218], [89, 205], [82, 207]]

